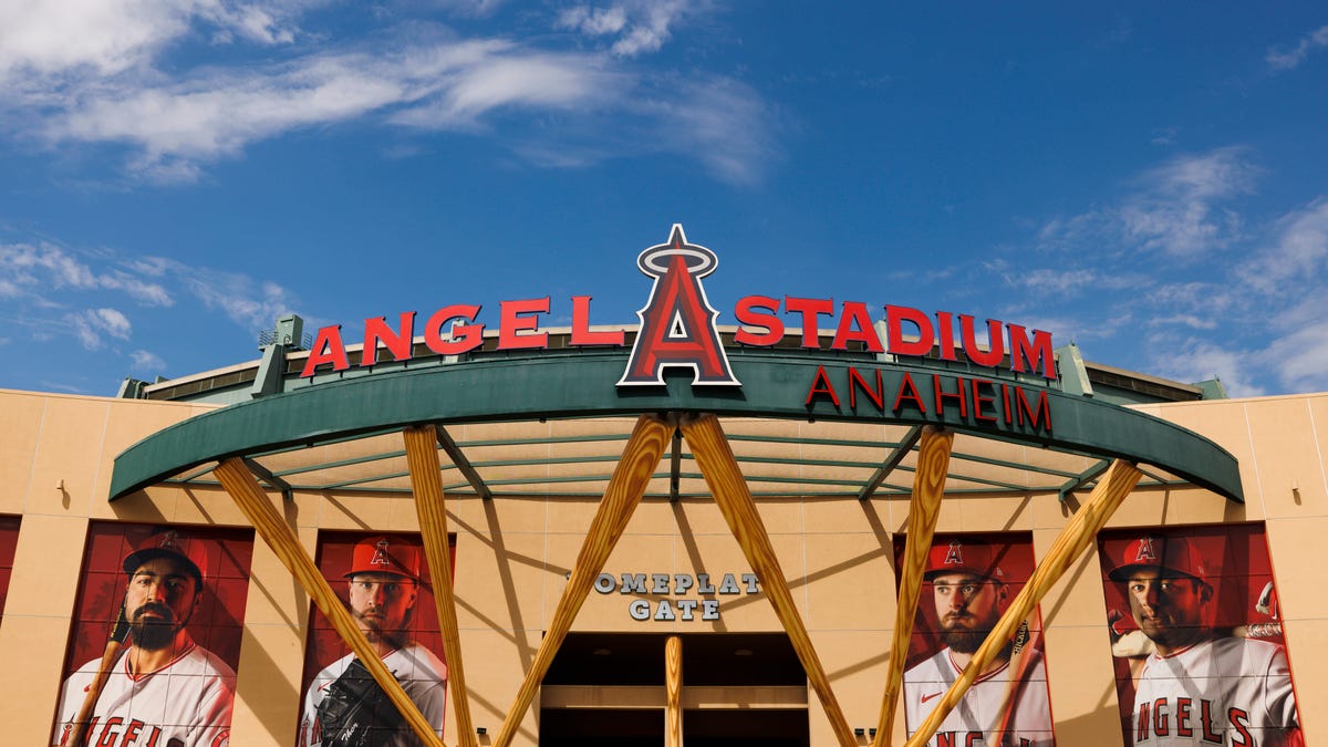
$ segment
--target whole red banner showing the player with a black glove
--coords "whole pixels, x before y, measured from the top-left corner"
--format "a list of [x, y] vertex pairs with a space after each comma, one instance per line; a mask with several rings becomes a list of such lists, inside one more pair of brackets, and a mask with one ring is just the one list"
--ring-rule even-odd
[[[420, 536], [323, 533], [317, 565], [382, 663], [442, 736], [448, 667]], [[297, 747], [418, 744], [386, 693], [316, 607], [309, 614], [300, 691]]]

